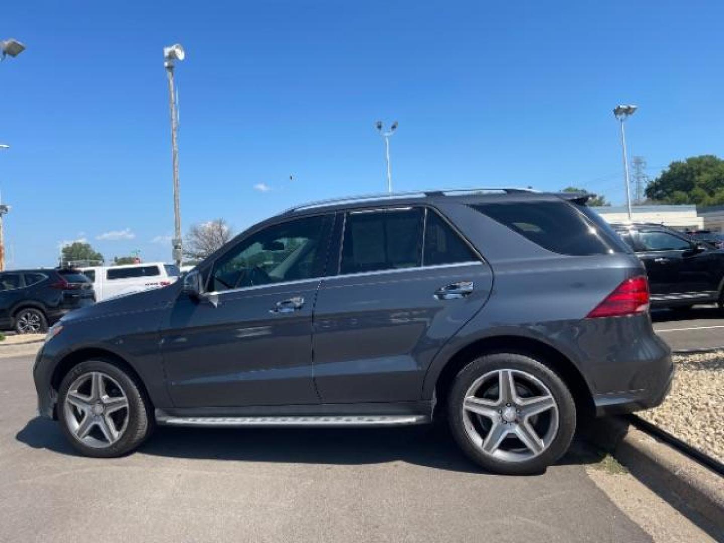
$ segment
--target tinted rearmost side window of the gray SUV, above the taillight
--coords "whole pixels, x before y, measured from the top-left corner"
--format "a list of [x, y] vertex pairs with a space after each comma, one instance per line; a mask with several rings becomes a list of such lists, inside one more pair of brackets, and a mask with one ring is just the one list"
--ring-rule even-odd
[[585, 256], [628, 252], [607, 229], [564, 201], [480, 203], [473, 208], [554, 253]]

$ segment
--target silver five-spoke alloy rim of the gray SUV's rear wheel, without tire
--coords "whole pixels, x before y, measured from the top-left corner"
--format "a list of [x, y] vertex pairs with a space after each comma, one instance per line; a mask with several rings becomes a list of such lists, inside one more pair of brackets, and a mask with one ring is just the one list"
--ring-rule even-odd
[[462, 410], [468, 437], [497, 460], [536, 458], [547, 450], [558, 429], [558, 406], [549, 388], [520, 370], [490, 371], [476, 379]]

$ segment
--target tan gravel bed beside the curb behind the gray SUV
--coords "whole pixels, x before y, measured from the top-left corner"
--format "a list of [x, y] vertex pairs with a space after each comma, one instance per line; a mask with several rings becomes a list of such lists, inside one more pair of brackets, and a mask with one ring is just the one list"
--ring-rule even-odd
[[636, 414], [724, 462], [724, 350], [674, 355], [674, 363], [665, 402]]

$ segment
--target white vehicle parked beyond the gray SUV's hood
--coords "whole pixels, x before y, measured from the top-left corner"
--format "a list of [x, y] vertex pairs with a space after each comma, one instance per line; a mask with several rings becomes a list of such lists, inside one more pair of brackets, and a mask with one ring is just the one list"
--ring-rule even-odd
[[140, 290], [165, 287], [178, 279], [176, 264], [148, 262], [120, 266], [83, 266], [78, 268], [93, 282], [98, 301]]

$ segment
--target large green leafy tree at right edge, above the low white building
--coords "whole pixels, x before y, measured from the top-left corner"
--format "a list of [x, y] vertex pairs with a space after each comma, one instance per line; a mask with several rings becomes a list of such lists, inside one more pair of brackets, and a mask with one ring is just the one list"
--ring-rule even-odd
[[701, 155], [674, 161], [649, 184], [646, 195], [663, 203], [724, 204], [724, 160]]

